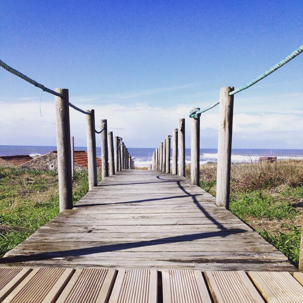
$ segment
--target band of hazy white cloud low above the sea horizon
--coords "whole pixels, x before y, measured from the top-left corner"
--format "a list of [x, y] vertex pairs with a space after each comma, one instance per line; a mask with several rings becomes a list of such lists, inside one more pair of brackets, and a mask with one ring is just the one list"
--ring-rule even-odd
[[[43, 94], [42, 117], [39, 99], [30, 98], [0, 100], [0, 140], [5, 145], [55, 145], [55, 105], [53, 96]], [[302, 94], [294, 94], [295, 103]], [[257, 98], [258, 99], [258, 98]], [[300, 148], [303, 147], [303, 111], [293, 103], [285, 108], [271, 107], [257, 99], [235, 100], [233, 122], [234, 148]], [[94, 108], [96, 129], [100, 129], [100, 119], [107, 119], [108, 130], [114, 136], [121, 136], [129, 147], [156, 147], [166, 135], [178, 127], [178, 119], [186, 119], [186, 146], [190, 146], [190, 118], [188, 104], [171, 106], [151, 103], [97, 103], [97, 99], [73, 98], [73, 103], [83, 109]], [[281, 97], [277, 104], [283, 102]], [[166, 103], [167, 104], [167, 103]], [[245, 104], [254, 104], [249, 107]], [[283, 105], [283, 104], [282, 104]], [[284, 105], [283, 105], [284, 106]], [[282, 107], [283, 107], [282, 106]], [[301, 104], [302, 108], [302, 104]], [[268, 109], [268, 111], [267, 111]], [[76, 146], [86, 145], [86, 116], [70, 108], [71, 135], [75, 136]], [[216, 147], [218, 106], [201, 116], [201, 138], [204, 148]], [[204, 138], [204, 139], [203, 139]], [[100, 135], [97, 135], [100, 146]]]

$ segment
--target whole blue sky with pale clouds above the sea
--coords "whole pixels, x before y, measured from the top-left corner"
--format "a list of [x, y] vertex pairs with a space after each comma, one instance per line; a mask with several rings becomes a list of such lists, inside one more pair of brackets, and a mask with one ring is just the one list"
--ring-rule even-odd
[[[303, 44], [303, 2], [0, 1], [0, 59], [94, 108], [129, 147], [156, 147], [220, 87], [251, 81]], [[303, 147], [303, 55], [235, 95], [233, 148]], [[0, 70], [0, 142], [54, 145], [54, 96]], [[219, 107], [201, 117], [216, 148]], [[77, 146], [85, 117], [71, 109]], [[97, 140], [99, 142], [99, 140]], [[99, 144], [100, 145], [100, 144]]]

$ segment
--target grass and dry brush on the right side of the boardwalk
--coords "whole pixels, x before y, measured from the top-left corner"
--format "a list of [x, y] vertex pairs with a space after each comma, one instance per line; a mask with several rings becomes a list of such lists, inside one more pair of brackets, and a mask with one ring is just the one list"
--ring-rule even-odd
[[[215, 197], [215, 163], [200, 167], [200, 187]], [[186, 167], [186, 177], [190, 167]], [[235, 164], [230, 211], [298, 264], [303, 213], [303, 161]]]

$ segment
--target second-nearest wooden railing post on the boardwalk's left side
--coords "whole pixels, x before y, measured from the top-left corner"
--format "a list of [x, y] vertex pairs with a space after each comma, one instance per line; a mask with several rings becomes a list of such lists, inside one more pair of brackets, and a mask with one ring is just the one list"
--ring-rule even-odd
[[86, 141], [87, 141], [87, 162], [89, 171], [89, 189], [97, 186], [97, 153], [96, 153], [96, 133], [95, 133], [95, 111], [89, 110], [90, 115], [86, 115]]

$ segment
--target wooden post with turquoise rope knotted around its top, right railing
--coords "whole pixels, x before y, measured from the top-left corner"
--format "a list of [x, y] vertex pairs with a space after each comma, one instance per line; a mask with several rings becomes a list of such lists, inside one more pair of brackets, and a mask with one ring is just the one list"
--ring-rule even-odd
[[[200, 109], [200, 108], [194, 108]], [[200, 184], [200, 117], [192, 118], [191, 130], [191, 183]]]

